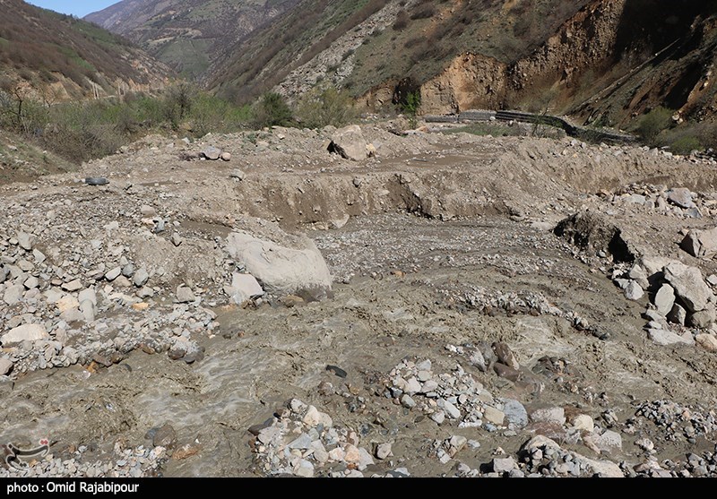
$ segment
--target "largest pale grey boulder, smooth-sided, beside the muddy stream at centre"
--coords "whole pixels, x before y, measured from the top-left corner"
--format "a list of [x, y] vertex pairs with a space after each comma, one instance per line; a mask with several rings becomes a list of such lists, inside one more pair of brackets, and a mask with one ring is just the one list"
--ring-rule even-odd
[[272, 235], [270, 239], [246, 231], [232, 232], [227, 237], [227, 253], [241, 262], [268, 293], [305, 299], [330, 295], [331, 273], [314, 242], [277, 229]]

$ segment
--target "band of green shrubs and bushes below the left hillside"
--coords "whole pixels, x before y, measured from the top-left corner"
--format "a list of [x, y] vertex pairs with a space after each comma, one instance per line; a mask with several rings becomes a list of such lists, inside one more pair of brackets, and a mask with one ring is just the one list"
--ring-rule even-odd
[[248, 106], [237, 107], [184, 82], [159, 96], [61, 104], [39, 99], [21, 83], [0, 82], [0, 129], [75, 163], [112, 154], [147, 133], [229, 133], [252, 119]]

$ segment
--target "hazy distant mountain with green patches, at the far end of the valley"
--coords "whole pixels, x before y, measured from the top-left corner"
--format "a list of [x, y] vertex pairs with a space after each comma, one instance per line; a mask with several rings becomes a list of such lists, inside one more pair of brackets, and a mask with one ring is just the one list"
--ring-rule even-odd
[[188, 78], [298, 0], [124, 0], [85, 16], [125, 36]]

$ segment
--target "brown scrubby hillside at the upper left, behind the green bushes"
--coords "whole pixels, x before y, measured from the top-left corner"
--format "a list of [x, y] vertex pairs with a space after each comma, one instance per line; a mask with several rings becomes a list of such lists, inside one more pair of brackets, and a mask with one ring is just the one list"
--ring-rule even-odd
[[52, 99], [163, 86], [171, 71], [138, 47], [90, 22], [0, 0], [0, 73]]

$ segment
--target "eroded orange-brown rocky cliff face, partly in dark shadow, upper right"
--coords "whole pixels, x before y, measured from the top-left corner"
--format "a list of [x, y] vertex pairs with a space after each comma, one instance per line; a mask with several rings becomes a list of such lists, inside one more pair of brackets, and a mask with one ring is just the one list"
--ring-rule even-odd
[[709, 99], [715, 22], [694, 8], [650, 10], [658, 4], [664, 2], [593, 2], [510, 65], [479, 54], [456, 56], [421, 85], [421, 111], [551, 108], [593, 119], [607, 114], [618, 123], [659, 104], [712, 112], [702, 107]]

